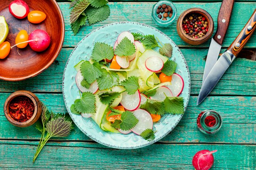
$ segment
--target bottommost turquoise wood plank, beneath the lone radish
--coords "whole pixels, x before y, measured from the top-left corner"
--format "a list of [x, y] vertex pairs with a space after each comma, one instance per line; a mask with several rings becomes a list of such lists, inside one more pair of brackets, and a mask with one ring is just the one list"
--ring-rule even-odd
[[218, 150], [211, 170], [256, 168], [255, 145], [153, 144], [136, 150], [117, 150], [88, 142], [49, 142], [32, 163], [36, 145], [34, 141], [0, 141], [1, 169], [191, 170], [194, 154], [202, 149]]

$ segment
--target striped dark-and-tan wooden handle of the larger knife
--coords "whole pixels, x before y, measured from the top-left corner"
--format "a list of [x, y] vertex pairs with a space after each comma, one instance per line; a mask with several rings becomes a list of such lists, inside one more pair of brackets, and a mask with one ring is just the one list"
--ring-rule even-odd
[[256, 29], [256, 9], [254, 10], [254, 13], [252, 14], [251, 18], [243, 28], [243, 30], [239, 33], [239, 35], [236, 37], [236, 40], [232, 42], [232, 44], [229, 46], [228, 50], [233, 53], [235, 56], [240, 53], [240, 51], [243, 49], [249, 38], [252, 36], [252, 33]]

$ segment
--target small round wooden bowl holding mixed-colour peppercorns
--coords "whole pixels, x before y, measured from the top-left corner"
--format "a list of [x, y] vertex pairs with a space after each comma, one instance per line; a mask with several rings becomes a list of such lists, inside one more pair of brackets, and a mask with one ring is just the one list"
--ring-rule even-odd
[[[192, 13], [197, 13], [199, 15], [202, 15], [206, 19], [205, 21], [208, 22], [208, 27], [209, 27], [208, 32], [201, 38], [189, 37], [189, 35], [186, 35], [186, 33], [182, 29], [183, 19], [185, 18], [186, 15], [189, 15]], [[205, 11], [201, 8], [187, 9], [180, 15], [180, 17], [178, 18], [178, 21], [177, 21], [177, 32], [178, 32], [180, 38], [184, 42], [192, 44], [192, 45], [199, 45], [199, 44], [202, 44], [202, 43], [206, 42], [207, 40], [209, 40], [209, 38], [211, 38], [211, 35], [213, 34], [213, 29], [214, 29], [214, 23], [213, 23], [213, 19], [211, 18], [211, 15], [207, 11]]]

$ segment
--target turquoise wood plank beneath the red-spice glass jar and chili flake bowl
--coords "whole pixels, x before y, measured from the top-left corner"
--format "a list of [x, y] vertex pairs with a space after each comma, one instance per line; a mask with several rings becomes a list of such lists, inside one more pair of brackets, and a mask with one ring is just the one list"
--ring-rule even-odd
[[[8, 97], [9, 93], [1, 93], [0, 101]], [[49, 109], [55, 112], [65, 112], [65, 104], [61, 94], [37, 94]], [[196, 96], [191, 96], [189, 106], [177, 127], [162, 139], [166, 143], [228, 143], [228, 144], [256, 144], [256, 97], [207, 97], [196, 106]], [[216, 105], [218, 103], [218, 105]], [[241, 109], [243, 107], [243, 109]], [[215, 135], [202, 134], [196, 126], [198, 114], [205, 109], [213, 109], [221, 113], [223, 125]], [[40, 133], [34, 126], [17, 128], [12, 126], [0, 110], [0, 139], [39, 139]], [[67, 138], [54, 140], [90, 140], [78, 128]]]

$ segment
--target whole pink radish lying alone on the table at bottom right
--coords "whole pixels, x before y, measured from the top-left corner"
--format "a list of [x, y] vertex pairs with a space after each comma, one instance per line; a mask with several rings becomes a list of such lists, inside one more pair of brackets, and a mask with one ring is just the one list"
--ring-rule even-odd
[[209, 170], [213, 165], [214, 158], [212, 153], [217, 152], [217, 150], [200, 150], [197, 152], [192, 160], [192, 164], [196, 170]]

